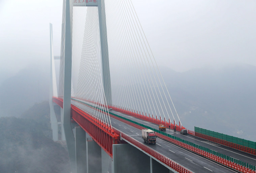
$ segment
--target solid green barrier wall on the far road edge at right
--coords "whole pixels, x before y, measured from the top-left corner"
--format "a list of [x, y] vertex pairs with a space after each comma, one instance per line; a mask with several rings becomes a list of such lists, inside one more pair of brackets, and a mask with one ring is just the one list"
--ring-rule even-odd
[[195, 132], [201, 133], [201, 134], [204, 134], [204, 135], [208, 135], [208, 136], [211, 136], [211, 137], [214, 137], [214, 138], [222, 139], [222, 140], [232, 142], [232, 143], [235, 143], [235, 144], [238, 144], [238, 145], [242, 145], [242, 146], [245, 146], [245, 147], [249, 147], [249, 148], [252, 148], [252, 149], [256, 149], [256, 142], [253, 142], [253, 141], [237, 138], [237, 137], [234, 137], [234, 136], [225, 135], [225, 134], [222, 134], [222, 133], [202, 129], [202, 128], [199, 128], [199, 127], [195, 127]]

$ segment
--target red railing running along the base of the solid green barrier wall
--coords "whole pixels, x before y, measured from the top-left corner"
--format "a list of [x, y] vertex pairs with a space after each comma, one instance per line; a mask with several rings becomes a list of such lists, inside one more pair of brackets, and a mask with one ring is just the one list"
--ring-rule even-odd
[[238, 149], [240, 151], [244, 151], [244, 152], [248, 152], [250, 154], [256, 155], [256, 149], [253, 149], [253, 148], [249, 148], [249, 147], [246, 147], [246, 146], [243, 146], [243, 145], [235, 144], [235, 143], [232, 143], [232, 142], [229, 142], [229, 141], [225, 141], [223, 139], [218, 139], [218, 138], [208, 136], [208, 135], [204, 135], [204, 134], [194, 132], [194, 131], [191, 131], [191, 130], [188, 130], [188, 134], [199, 137], [199, 138], [202, 138], [202, 139], [206, 139], [206, 140], [209, 140], [209, 141], [213, 141], [213, 142], [216, 142], [216, 143], [219, 143], [221, 145], [225, 145], [225, 146], [228, 146], [228, 147], [231, 147], [231, 148], [235, 148], [235, 149]]

